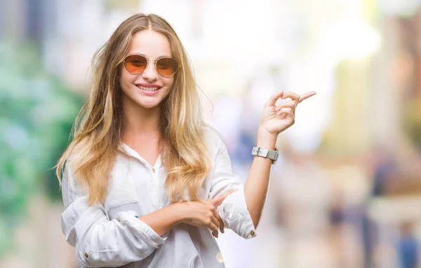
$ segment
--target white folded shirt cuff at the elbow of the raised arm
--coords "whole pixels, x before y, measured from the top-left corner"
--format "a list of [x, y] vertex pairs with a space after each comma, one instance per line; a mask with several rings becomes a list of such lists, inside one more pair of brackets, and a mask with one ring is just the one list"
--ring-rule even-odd
[[233, 230], [239, 236], [250, 239], [257, 235], [247, 209], [243, 188], [228, 195], [217, 210], [225, 227]]

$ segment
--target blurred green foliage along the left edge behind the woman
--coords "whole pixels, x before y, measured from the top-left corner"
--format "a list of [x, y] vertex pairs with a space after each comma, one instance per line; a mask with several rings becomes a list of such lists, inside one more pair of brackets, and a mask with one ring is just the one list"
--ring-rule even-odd
[[60, 197], [51, 169], [66, 148], [83, 97], [47, 73], [36, 48], [0, 41], [0, 258], [29, 197]]

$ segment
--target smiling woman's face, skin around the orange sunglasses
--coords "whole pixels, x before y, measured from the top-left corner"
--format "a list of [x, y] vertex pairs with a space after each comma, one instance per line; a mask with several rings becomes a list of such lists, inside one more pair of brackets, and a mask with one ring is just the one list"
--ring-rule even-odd
[[[143, 55], [147, 59], [172, 57], [171, 45], [163, 34], [150, 29], [138, 31], [133, 36], [128, 55]], [[170, 93], [174, 76], [160, 76], [155, 69], [155, 61], [147, 62], [145, 71], [140, 74], [129, 73], [124, 66], [120, 68], [120, 85], [123, 90], [123, 105], [142, 108], [155, 108]]]

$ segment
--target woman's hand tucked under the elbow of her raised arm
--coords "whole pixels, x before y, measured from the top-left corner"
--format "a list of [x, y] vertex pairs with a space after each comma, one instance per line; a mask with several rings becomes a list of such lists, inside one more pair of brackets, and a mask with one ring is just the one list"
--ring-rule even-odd
[[232, 194], [234, 190], [218, 195], [214, 199], [202, 200], [198, 202], [182, 202], [184, 219], [182, 223], [194, 225], [197, 227], [208, 227], [214, 237], [218, 237], [218, 228], [224, 232], [224, 224], [216, 208], [224, 199]]

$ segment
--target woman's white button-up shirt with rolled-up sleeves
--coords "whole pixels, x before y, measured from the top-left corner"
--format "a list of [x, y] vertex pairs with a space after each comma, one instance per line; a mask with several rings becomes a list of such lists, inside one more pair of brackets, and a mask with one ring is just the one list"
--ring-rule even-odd
[[[236, 189], [218, 206], [218, 213], [225, 227], [246, 239], [255, 237], [243, 184], [232, 171], [227, 148], [214, 130], [205, 128], [204, 132], [212, 169], [200, 197], [213, 199]], [[152, 167], [122, 144], [105, 202], [88, 206], [86, 191], [73, 183], [73, 171], [66, 167], [62, 178], [62, 231], [69, 244], [76, 246], [81, 267], [225, 267], [218, 262], [220, 249], [208, 228], [181, 223], [161, 237], [135, 217], [171, 204], [165, 180], [166, 170], [159, 157]]]

